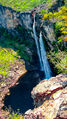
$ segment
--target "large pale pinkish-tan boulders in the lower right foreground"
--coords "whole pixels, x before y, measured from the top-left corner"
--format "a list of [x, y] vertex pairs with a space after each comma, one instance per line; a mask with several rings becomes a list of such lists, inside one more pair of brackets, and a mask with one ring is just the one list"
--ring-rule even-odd
[[37, 108], [25, 119], [67, 119], [67, 74], [41, 81], [31, 92]]

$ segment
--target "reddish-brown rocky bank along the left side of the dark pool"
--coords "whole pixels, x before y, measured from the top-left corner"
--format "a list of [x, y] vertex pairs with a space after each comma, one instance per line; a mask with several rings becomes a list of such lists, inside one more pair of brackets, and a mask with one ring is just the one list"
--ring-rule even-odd
[[26, 73], [24, 61], [16, 61], [11, 65], [8, 77], [0, 75], [0, 119], [7, 119], [9, 112], [2, 110], [4, 98], [9, 95], [10, 88], [17, 85], [19, 78]]

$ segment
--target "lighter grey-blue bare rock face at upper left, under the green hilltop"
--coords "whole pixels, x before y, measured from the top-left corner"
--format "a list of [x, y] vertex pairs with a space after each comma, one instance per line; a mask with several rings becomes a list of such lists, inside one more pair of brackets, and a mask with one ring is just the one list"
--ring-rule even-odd
[[9, 7], [0, 5], [0, 26], [13, 30], [18, 25], [23, 24], [27, 29], [31, 29], [31, 12], [20, 13]]

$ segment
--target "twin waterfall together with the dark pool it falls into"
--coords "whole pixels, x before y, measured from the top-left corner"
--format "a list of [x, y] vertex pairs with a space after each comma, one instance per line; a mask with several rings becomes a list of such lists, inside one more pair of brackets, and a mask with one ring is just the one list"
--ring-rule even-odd
[[[8, 110], [11, 108], [11, 112], [17, 112], [19, 109], [19, 112], [24, 114], [27, 110], [33, 109], [34, 102], [31, 98], [31, 91], [33, 87], [35, 87], [41, 80], [49, 79], [51, 77], [51, 69], [47, 60], [46, 50], [43, 45], [42, 34], [40, 32], [40, 38], [38, 40], [35, 22], [34, 15], [33, 33], [37, 48], [37, 55], [40, 61], [40, 69], [37, 71], [28, 71], [19, 79], [19, 84], [16, 87], [10, 88], [10, 95], [5, 97], [4, 104]], [[40, 77], [40, 72], [44, 75], [43, 77]]]

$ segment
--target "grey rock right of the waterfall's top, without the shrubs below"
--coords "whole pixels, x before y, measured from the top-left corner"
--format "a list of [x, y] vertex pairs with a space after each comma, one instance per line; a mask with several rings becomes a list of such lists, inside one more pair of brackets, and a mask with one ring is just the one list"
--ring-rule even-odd
[[[47, 22], [47, 20], [43, 21], [43, 14], [41, 13], [42, 10], [45, 10], [48, 12], [56, 12], [59, 11], [60, 7], [65, 4], [64, 0], [52, 0], [51, 4], [50, 2], [47, 2], [46, 4], [41, 5], [40, 7], [35, 8], [36, 15], [36, 28], [37, 33], [39, 34], [40, 30], [43, 34], [43, 39], [47, 41], [47, 45], [49, 49], [55, 50], [56, 46], [56, 31], [55, 31], [55, 24], [53, 22]], [[55, 46], [53, 45], [55, 43]]]

